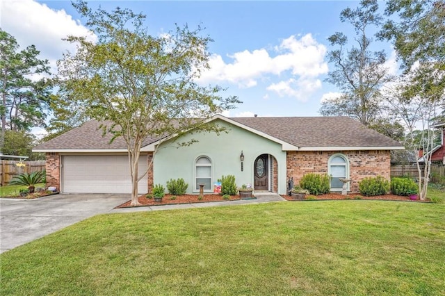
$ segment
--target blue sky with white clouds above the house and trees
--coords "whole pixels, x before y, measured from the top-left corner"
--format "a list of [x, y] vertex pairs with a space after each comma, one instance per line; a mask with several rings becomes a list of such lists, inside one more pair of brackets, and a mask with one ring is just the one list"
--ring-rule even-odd
[[[342, 31], [354, 37], [353, 28], [340, 22], [346, 7], [358, 1], [90, 1], [91, 7], [111, 10], [131, 8], [147, 15], [152, 35], [167, 33], [188, 24], [213, 38], [210, 44], [212, 69], [202, 83], [219, 84], [243, 101], [227, 116], [318, 116], [321, 100], [339, 91], [324, 81], [332, 65], [327, 37]], [[384, 6], [381, 1], [380, 5]], [[42, 58], [55, 62], [64, 50], [72, 50], [61, 38], [85, 35], [81, 19], [70, 1], [3, 0], [1, 28], [29, 44]], [[17, 22], [19, 19], [19, 22]], [[385, 49], [389, 67], [395, 69], [391, 44], [377, 42]]]

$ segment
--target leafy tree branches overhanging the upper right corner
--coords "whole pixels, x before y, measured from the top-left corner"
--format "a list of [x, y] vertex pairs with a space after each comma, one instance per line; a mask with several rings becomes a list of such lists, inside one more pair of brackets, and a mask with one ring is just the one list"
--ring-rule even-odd
[[379, 37], [394, 42], [412, 76], [405, 96], [421, 94], [445, 108], [445, 1], [389, 0], [385, 14], [397, 19], [388, 19]]

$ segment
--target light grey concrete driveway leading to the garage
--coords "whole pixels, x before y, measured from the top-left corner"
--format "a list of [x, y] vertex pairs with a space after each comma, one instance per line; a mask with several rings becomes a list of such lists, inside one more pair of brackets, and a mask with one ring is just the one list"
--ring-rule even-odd
[[0, 253], [97, 214], [109, 213], [129, 195], [60, 194], [0, 199]]

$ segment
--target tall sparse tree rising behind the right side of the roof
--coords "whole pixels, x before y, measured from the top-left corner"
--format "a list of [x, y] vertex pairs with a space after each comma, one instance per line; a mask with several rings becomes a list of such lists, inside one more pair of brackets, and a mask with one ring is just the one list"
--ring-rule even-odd
[[348, 22], [355, 29], [357, 46], [347, 49], [348, 38], [341, 32], [327, 39], [337, 49], [328, 54], [334, 69], [328, 73], [326, 80], [340, 88], [342, 95], [323, 102], [322, 115], [346, 115], [365, 125], [378, 117], [380, 87], [389, 80], [389, 76], [384, 67], [385, 51], [372, 52], [370, 49], [373, 40], [369, 38], [369, 28], [379, 26], [382, 20], [377, 10], [377, 0], [362, 0], [359, 8], [341, 11], [341, 22]]

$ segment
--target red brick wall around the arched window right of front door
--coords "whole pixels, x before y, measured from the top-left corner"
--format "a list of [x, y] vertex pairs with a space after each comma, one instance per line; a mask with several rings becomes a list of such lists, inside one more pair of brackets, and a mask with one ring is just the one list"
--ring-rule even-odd
[[343, 154], [349, 161], [350, 191], [358, 192], [358, 182], [368, 176], [390, 179], [389, 150], [379, 151], [287, 151], [286, 179], [293, 177], [295, 184], [307, 173], [327, 174], [327, 162], [333, 154]]

